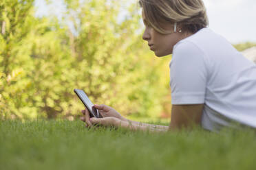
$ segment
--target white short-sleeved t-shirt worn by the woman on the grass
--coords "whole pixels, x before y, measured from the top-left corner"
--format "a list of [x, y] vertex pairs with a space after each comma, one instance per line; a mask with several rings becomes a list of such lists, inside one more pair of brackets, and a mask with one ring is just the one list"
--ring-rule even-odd
[[204, 104], [202, 127], [256, 127], [256, 64], [222, 36], [203, 28], [180, 40], [169, 66], [172, 104]]

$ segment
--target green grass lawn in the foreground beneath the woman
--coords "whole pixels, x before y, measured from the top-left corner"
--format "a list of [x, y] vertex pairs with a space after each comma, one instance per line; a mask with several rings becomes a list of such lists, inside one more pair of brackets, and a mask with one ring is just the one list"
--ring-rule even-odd
[[252, 130], [150, 134], [81, 121], [0, 121], [0, 169], [255, 169]]

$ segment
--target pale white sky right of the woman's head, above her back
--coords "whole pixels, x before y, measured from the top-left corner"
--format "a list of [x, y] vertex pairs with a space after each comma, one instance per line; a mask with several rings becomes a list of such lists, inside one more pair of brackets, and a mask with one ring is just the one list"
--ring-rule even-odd
[[256, 42], [255, 0], [204, 0], [209, 27], [232, 43]]

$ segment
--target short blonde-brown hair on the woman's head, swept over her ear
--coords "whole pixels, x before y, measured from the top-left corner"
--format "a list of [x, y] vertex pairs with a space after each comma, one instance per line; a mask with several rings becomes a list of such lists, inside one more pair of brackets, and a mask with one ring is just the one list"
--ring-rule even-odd
[[147, 24], [161, 34], [165, 30], [162, 23], [178, 23], [182, 32], [198, 32], [209, 25], [206, 8], [202, 0], [140, 0]]

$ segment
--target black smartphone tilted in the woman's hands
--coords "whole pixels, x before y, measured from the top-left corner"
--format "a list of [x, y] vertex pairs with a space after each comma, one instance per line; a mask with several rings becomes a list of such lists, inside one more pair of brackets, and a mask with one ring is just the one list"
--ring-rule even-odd
[[92, 104], [92, 101], [89, 100], [87, 95], [83, 90], [80, 89], [74, 89], [74, 93], [81, 99], [87, 110], [89, 110], [90, 117], [96, 117], [96, 118], [102, 118], [100, 115], [100, 112], [96, 108], [94, 108], [94, 104]]

